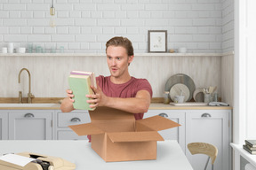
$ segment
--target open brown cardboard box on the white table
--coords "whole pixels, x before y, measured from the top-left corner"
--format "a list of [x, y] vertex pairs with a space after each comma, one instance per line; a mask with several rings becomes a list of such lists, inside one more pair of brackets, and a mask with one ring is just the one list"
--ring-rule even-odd
[[135, 120], [130, 112], [108, 107], [89, 111], [91, 123], [69, 126], [77, 135], [92, 135], [92, 149], [106, 162], [156, 159], [157, 131], [180, 124], [154, 116]]

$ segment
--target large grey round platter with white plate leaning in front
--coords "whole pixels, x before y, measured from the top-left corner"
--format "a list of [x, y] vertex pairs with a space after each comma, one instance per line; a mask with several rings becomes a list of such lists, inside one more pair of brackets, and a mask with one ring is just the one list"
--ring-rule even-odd
[[172, 101], [175, 96], [180, 95], [181, 90], [182, 95], [185, 96], [184, 102], [190, 101], [195, 89], [196, 86], [194, 81], [188, 75], [183, 73], [172, 75], [165, 84], [165, 91], [170, 91]]

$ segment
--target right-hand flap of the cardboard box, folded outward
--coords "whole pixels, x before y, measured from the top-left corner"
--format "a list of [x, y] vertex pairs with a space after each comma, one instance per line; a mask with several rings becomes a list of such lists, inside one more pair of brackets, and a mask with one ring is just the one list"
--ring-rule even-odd
[[148, 128], [152, 128], [156, 131], [164, 130], [167, 128], [175, 128], [180, 126], [179, 123], [176, 123], [175, 121], [169, 120], [167, 118], [164, 118], [158, 115], [150, 118], [146, 118], [143, 120], [137, 120], [136, 122], [141, 123], [147, 126]]

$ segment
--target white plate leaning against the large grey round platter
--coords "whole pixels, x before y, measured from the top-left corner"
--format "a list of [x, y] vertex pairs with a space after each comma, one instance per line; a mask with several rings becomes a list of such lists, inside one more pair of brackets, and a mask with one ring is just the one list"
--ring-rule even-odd
[[190, 91], [185, 84], [181, 84], [181, 83], [177, 83], [173, 85], [172, 88], [170, 89], [170, 97], [172, 101], [174, 101], [175, 96], [180, 96], [181, 90], [182, 90], [182, 96], [184, 96], [184, 102], [188, 101]]

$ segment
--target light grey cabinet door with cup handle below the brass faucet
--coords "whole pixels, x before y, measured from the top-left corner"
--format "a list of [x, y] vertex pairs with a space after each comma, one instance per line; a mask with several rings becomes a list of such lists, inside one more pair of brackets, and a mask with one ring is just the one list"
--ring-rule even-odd
[[12, 140], [51, 140], [52, 111], [9, 112], [9, 138]]

